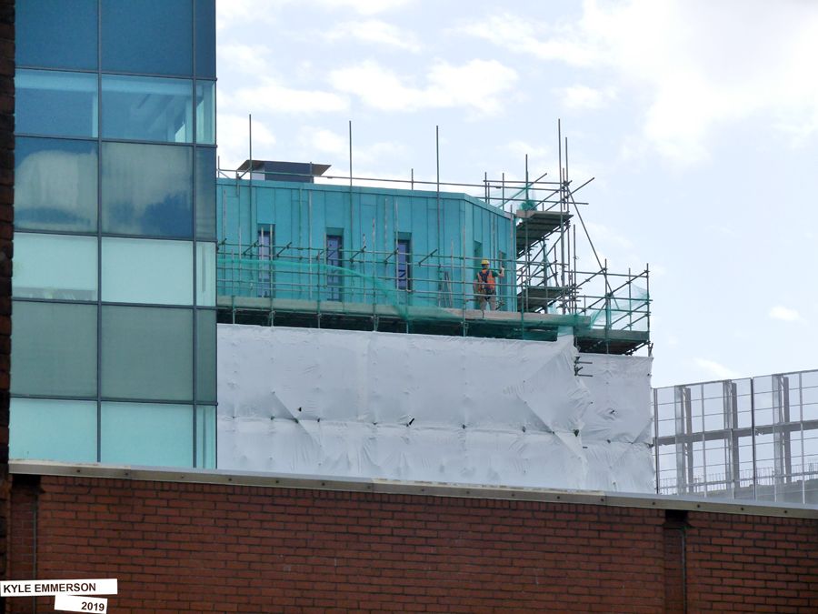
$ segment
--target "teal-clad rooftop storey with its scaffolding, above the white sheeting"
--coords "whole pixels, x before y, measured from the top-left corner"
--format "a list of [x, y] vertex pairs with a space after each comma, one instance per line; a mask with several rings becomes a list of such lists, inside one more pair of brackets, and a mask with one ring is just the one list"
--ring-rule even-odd
[[[220, 322], [544, 340], [567, 327], [581, 351], [649, 350], [648, 269], [574, 266], [577, 227], [590, 237], [565, 173], [454, 184], [289, 167], [220, 172]], [[475, 286], [484, 259], [504, 270], [495, 310]]]

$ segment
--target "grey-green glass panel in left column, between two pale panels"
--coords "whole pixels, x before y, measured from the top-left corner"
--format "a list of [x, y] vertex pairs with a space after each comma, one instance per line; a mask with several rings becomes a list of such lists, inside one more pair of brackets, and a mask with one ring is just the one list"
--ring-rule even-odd
[[11, 392], [96, 397], [96, 306], [14, 301]]

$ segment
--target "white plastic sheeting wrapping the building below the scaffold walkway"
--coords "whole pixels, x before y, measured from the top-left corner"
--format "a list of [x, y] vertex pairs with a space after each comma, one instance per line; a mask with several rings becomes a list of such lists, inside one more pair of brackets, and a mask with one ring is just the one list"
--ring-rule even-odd
[[[218, 466], [540, 488], [638, 486], [641, 478], [612, 475], [623, 459], [623, 470], [643, 461], [628, 454], [633, 440], [617, 441], [623, 448], [615, 451], [604, 440], [594, 454], [584, 448], [584, 416], [594, 407], [584, 380], [592, 378], [574, 375], [572, 341], [219, 325]], [[612, 365], [604, 372], [615, 379]], [[644, 385], [646, 396], [649, 380]], [[635, 473], [645, 470], [652, 475], [650, 455]], [[646, 488], [628, 489], [652, 485], [651, 477]]]

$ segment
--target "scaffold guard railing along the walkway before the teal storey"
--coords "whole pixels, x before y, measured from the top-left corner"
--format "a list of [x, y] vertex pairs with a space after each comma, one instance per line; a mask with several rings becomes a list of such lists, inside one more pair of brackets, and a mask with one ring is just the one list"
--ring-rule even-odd
[[[585, 326], [648, 331], [648, 271], [615, 274], [603, 268], [574, 272], [569, 287], [554, 287], [545, 267], [530, 261], [493, 261], [496, 294], [486, 297], [478, 286], [482, 258], [342, 250], [329, 257], [325, 249], [222, 242], [217, 254], [217, 288], [221, 297], [260, 297], [290, 301], [434, 307], [441, 317], [468, 309], [538, 312], [582, 318]], [[581, 281], [576, 282], [576, 279]], [[486, 301], [486, 298], [492, 300]], [[534, 302], [536, 298], [536, 302]], [[494, 305], [493, 305], [494, 304]], [[428, 315], [428, 310], [426, 315]]]

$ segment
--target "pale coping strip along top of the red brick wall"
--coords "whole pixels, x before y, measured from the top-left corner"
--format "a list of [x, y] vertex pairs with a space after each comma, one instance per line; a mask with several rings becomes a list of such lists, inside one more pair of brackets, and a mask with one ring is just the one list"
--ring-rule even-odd
[[552, 488], [517, 488], [412, 482], [375, 478], [335, 478], [264, 472], [232, 472], [220, 469], [175, 469], [129, 465], [61, 463], [40, 460], [12, 460], [12, 475], [65, 476], [75, 478], [109, 478], [154, 482], [251, 486], [258, 488], [306, 488], [345, 492], [368, 492], [385, 495], [420, 495], [426, 497], [488, 498], [506, 501], [541, 501], [574, 503], [614, 508], [654, 508], [703, 511], [781, 518], [816, 518], [818, 508], [783, 502], [693, 498], [650, 493], [604, 492], [601, 490], [557, 490]]

